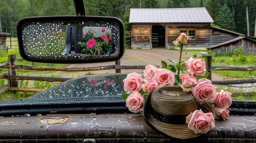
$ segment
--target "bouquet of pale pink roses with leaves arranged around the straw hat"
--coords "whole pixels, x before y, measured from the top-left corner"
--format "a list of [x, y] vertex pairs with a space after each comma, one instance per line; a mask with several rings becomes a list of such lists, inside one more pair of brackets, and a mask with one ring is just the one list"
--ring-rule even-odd
[[[169, 60], [171, 64], [168, 65], [165, 61], [162, 61], [162, 67], [149, 64], [143, 71], [143, 75], [135, 72], [127, 75], [127, 78], [123, 80], [126, 93], [122, 94], [122, 98], [126, 101], [129, 111], [133, 113], [143, 111], [144, 99], [156, 88], [177, 85], [181, 86], [186, 92], [191, 91], [199, 104], [205, 102], [212, 104], [216, 113], [216, 117], [213, 117], [212, 114], [204, 114], [201, 110], [196, 110], [187, 117], [188, 123], [191, 118], [195, 118], [195, 114], [201, 114], [204, 119], [209, 119], [211, 122], [214, 122], [214, 118], [229, 119], [228, 108], [232, 104], [232, 94], [223, 90], [216, 91], [216, 87], [212, 85], [211, 80], [206, 79], [209, 74], [202, 59], [190, 58], [186, 62], [181, 61], [183, 45], [186, 45], [188, 38], [189, 36], [186, 36], [186, 34], [180, 33], [180, 36], [173, 42], [175, 46], [180, 46], [180, 60], [178, 63]], [[184, 70], [187, 70], [188, 73], [184, 73]], [[191, 125], [189, 124], [189, 126]], [[211, 128], [213, 126], [214, 124]], [[208, 130], [203, 133], [208, 132]]]

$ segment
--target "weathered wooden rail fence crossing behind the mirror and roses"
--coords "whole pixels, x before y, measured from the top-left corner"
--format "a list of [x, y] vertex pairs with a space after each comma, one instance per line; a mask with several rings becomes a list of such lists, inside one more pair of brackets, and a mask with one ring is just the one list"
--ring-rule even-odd
[[[211, 55], [205, 55], [206, 70], [209, 71], [208, 79], [211, 80], [212, 70], [240, 70], [240, 71], [252, 71], [256, 70], [256, 66], [212, 66]], [[92, 70], [109, 70], [115, 69], [116, 73], [121, 73], [121, 70], [129, 69], [144, 69], [145, 66], [122, 66], [120, 61], [116, 61], [115, 65], [109, 66], [97, 66], [97, 67], [38, 67], [38, 66], [26, 66], [17, 65], [16, 55], [8, 55], [8, 62], [0, 64], [0, 68], [9, 69], [0, 73], [0, 79], [8, 79], [9, 85], [0, 87], [0, 95], [6, 91], [27, 91], [27, 92], [40, 92], [44, 89], [36, 88], [18, 88], [17, 80], [41, 80], [47, 82], [64, 82], [72, 78], [67, 77], [38, 77], [38, 76], [18, 76], [17, 70], [55, 70], [55, 71], [92, 71]], [[213, 84], [217, 85], [233, 85], [243, 83], [256, 83], [255, 79], [245, 80], [212, 80]], [[243, 93], [244, 95], [256, 95], [255, 92]], [[234, 95], [234, 94], [233, 94]]]

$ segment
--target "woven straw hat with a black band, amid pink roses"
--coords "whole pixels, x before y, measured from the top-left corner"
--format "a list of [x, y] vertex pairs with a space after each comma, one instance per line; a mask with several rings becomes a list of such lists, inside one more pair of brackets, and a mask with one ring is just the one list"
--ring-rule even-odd
[[143, 117], [150, 128], [178, 139], [194, 138], [196, 134], [187, 128], [186, 117], [199, 108], [204, 113], [215, 114], [209, 103], [199, 106], [192, 92], [180, 86], [164, 86], [151, 92], [144, 103]]

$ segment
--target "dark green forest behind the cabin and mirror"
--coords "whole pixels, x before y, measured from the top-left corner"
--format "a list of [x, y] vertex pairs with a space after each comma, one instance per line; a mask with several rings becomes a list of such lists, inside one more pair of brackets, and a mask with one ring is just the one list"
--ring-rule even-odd
[[[87, 15], [118, 17], [129, 26], [130, 8], [206, 7], [214, 26], [248, 35], [246, 7], [249, 13], [249, 36], [254, 35], [256, 0], [84, 0]], [[39, 15], [76, 15], [73, 0], [1, 0], [0, 30], [17, 37], [16, 25], [23, 17]]]

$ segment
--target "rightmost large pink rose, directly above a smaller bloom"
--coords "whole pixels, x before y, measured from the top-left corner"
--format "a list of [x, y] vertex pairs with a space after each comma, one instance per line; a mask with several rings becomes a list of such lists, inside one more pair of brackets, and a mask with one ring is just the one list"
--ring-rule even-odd
[[230, 92], [221, 90], [216, 94], [214, 102], [220, 108], [229, 108], [232, 104], [231, 95]]

